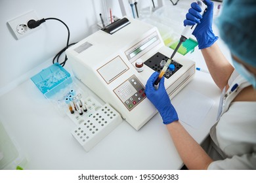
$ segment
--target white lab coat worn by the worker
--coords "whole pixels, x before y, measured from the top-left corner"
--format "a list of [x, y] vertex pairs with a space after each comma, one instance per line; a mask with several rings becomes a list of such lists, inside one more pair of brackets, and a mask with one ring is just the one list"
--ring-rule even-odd
[[[208, 169], [256, 169], [256, 102], [232, 102], [250, 85], [236, 71], [228, 84], [230, 88], [223, 92], [224, 99], [221, 99], [219, 119], [210, 131], [208, 153], [216, 161]], [[238, 88], [230, 92], [234, 84], [238, 84]]]

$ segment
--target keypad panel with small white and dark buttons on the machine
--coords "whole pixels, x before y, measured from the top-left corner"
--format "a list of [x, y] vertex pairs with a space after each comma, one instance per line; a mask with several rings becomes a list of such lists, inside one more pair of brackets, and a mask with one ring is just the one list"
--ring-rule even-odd
[[118, 86], [114, 90], [114, 93], [116, 93], [117, 97], [122, 101], [123, 105], [125, 105], [128, 110], [132, 110], [140, 103], [140, 101], [146, 98], [144, 86], [142, 86], [135, 75], [131, 76], [131, 78]]

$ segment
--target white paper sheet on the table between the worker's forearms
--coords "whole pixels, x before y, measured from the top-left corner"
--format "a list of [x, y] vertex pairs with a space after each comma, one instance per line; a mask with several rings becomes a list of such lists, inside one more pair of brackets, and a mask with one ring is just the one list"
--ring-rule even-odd
[[205, 116], [214, 104], [215, 101], [213, 99], [192, 91], [175, 108], [179, 120], [194, 128], [198, 128], [202, 125]]

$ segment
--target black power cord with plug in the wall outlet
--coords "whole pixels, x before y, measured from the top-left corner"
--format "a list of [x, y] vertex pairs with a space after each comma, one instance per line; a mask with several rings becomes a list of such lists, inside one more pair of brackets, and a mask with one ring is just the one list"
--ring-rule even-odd
[[[66, 25], [62, 20], [60, 20], [60, 19], [58, 19], [58, 18], [52, 18], [52, 17], [51, 17], [51, 18], [42, 18], [41, 20], [37, 20], [37, 21], [35, 21], [35, 20], [30, 20], [30, 21], [28, 21], [28, 27], [29, 27], [30, 29], [34, 29], [35, 27], [38, 27], [39, 25], [41, 25], [43, 22], [45, 22], [45, 21], [47, 21], [47, 20], [57, 20], [57, 21], [61, 22], [62, 24], [64, 24], [65, 27], [66, 27], [67, 30], [68, 30], [68, 40], [67, 40], [67, 43], [66, 43], [66, 47], [63, 48], [62, 50], [60, 50], [60, 52], [58, 52], [58, 54], [56, 54], [56, 56], [54, 56], [54, 58], [53, 58], [53, 64], [55, 63], [55, 59], [56, 59], [56, 62], [59, 63], [59, 62], [58, 62], [58, 59], [59, 59], [60, 56], [63, 54], [63, 52], [65, 52], [65, 50], [68, 49], [69, 46], [72, 46], [72, 45], [75, 44], [76, 42], [75, 42], [75, 43], [72, 43], [72, 44], [69, 44], [69, 42], [70, 42], [70, 29], [68, 28], [68, 25]], [[62, 63], [60, 63], [60, 65], [61, 65], [62, 67], [64, 67], [64, 65], [65, 65], [65, 63], [66, 63], [67, 60], [68, 60], [68, 58], [67, 58], [67, 56], [65, 56], [64, 61], [62, 61]]]

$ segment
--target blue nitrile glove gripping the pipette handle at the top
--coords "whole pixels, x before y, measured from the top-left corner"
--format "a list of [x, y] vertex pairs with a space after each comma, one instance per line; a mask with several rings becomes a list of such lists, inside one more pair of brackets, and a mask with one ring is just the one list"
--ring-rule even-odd
[[196, 37], [199, 49], [208, 48], [218, 39], [212, 29], [214, 4], [209, 0], [204, 0], [204, 2], [207, 5], [207, 10], [203, 16], [200, 14], [201, 8], [194, 2], [184, 20], [184, 26], [198, 24], [192, 35]]

